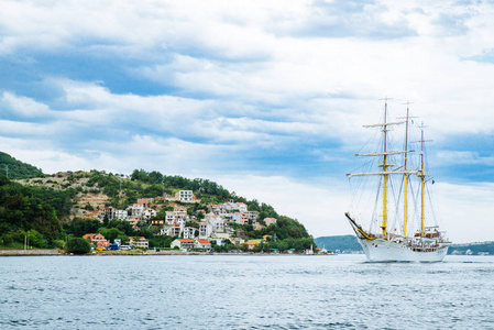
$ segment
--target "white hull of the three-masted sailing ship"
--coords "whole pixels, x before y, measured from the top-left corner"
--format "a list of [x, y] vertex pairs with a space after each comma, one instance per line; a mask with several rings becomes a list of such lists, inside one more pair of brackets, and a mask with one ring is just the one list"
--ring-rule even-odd
[[448, 253], [448, 245], [429, 251], [414, 251], [409, 246], [381, 239], [356, 239], [365, 256], [372, 262], [441, 262]]

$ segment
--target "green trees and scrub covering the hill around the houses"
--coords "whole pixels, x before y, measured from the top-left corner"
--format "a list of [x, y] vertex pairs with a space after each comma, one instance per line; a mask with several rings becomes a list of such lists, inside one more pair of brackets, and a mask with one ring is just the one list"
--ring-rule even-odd
[[[13, 160], [3, 155], [6, 160]], [[244, 202], [250, 211], [259, 212], [260, 222], [264, 218], [277, 219], [276, 224], [260, 230], [254, 230], [252, 224], [231, 224], [235, 234], [245, 240], [267, 235], [267, 242], [260, 244], [256, 251], [315, 248], [312, 238], [297, 220], [279, 216], [272, 206], [237, 196], [208, 179], [188, 179], [143, 169], [135, 169], [129, 177], [98, 170], [43, 175], [34, 166], [15, 162], [17, 167], [9, 165], [9, 178], [0, 174], [0, 246], [19, 249], [29, 241], [34, 248], [66, 248], [66, 242], [73, 238], [99, 232], [110, 241], [120, 239], [127, 243], [130, 237], [138, 235], [149, 239], [150, 248], [169, 248], [175, 238], [157, 235], [150, 221], [133, 228], [128, 221], [96, 219], [106, 207], [127, 209], [138, 198], [153, 198], [152, 206], [158, 212], [154, 219], [164, 219], [166, 211], [180, 206], [187, 208], [191, 223], [196, 226], [205, 218], [208, 205], [228, 200]], [[14, 172], [15, 176], [11, 177], [11, 168], [23, 169]], [[193, 190], [197, 200], [185, 204], [154, 199], [174, 196], [178, 190]], [[217, 251], [245, 248], [230, 241], [227, 243], [230, 243], [228, 249], [215, 248]]]

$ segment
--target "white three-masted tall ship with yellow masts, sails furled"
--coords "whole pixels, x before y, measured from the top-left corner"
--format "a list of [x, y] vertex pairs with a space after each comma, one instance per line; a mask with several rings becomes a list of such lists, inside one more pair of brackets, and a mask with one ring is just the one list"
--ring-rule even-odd
[[405, 117], [388, 121], [387, 99], [380, 121], [364, 125], [375, 134], [355, 154], [363, 158], [360, 170], [347, 174], [353, 193], [347, 219], [371, 262], [441, 262], [451, 243], [439, 229], [429, 194], [435, 180], [425, 127], [416, 124], [409, 103]]

